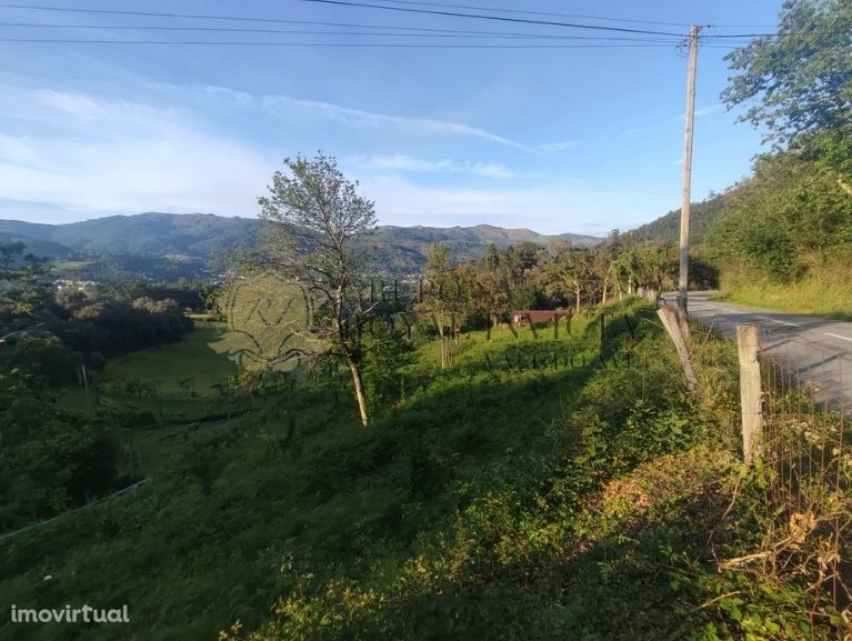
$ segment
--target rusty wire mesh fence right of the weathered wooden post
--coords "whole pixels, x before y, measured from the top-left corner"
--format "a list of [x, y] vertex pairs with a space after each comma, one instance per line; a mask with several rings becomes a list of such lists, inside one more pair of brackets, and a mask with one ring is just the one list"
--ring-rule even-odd
[[[776, 530], [768, 560], [809, 577], [814, 602], [852, 603], [852, 398], [845, 354], [780, 329], [760, 330], [762, 425]], [[848, 363], [846, 363], [848, 364]]]

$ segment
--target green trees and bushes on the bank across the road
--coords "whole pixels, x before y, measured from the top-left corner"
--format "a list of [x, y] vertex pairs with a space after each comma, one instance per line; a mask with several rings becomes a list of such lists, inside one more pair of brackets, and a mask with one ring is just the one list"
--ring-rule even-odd
[[[852, 243], [852, 7], [790, 0], [778, 31], [728, 56], [736, 74], [723, 100], [750, 104], [741, 120], [764, 127], [776, 149], [725, 194], [709, 256], [725, 293], [739, 300], [845, 313], [846, 279], [833, 281], [830, 263]], [[813, 284], [826, 281], [832, 301], [815, 301]], [[783, 288], [790, 291], [779, 296]]]

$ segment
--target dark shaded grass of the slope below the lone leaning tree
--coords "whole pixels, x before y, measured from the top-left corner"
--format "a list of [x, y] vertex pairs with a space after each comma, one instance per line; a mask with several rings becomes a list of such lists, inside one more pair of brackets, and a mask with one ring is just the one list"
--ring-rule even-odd
[[[150, 374], [163, 388], [179, 389], [181, 377], [199, 375], [198, 368], [210, 363], [197, 349], [206, 338], [126, 357], [111, 363], [108, 381]], [[533, 345], [529, 334], [520, 343]], [[494, 347], [514, 355], [518, 343], [507, 332]], [[467, 350], [475, 360], [482, 345]], [[277, 568], [288, 551], [355, 572], [404, 554], [421, 529], [452, 520], [458, 499], [440, 488], [471, 482], [508, 449], [543, 447], [544, 427], [559, 415], [561, 397], [552, 392], [569, 391], [585, 375], [510, 372], [492, 380], [480, 373], [430, 383], [433, 351], [427, 345], [422, 367], [410, 374], [425, 387], [412, 383], [403, 407], [369, 429], [358, 425], [348, 397], [333, 404], [325, 392], [305, 391], [281, 399], [279, 419], [247, 420], [239, 430], [213, 425], [187, 442], [170, 441], [171, 451], [159, 452], [167, 460], [156, 464], [158, 471], [170, 470], [166, 478], [4, 543], [0, 608], [127, 601], [139, 621], [132, 638], [213, 638], [235, 618], [260, 623], [287, 588]], [[592, 351], [585, 358], [591, 360]], [[289, 415], [297, 417], [298, 432], [284, 447]], [[142, 441], [154, 438], [159, 434], [138, 434]], [[412, 459], [422, 455], [423, 471], [412, 472]], [[412, 473], [434, 487], [425, 490], [425, 500], [408, 495]], [[212, 490], [204, 497], [200, 479], [208, 477]], [[43, 581], [47, 574], [53, 579]], [[4, 633], [0, 627], [0, 637]], [[120, 633], [103, 628], [90, 638]], [[73, 631], [36, 627], [16, 634], [61, 639]]]

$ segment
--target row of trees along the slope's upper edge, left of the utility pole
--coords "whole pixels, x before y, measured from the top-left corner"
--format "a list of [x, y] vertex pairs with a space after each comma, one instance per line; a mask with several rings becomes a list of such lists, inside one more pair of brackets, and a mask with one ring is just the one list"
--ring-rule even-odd
[[[712, 269], [698, 261], [701, 286], [712, 284]], [[462, 327], [488, 328], [515, 310], [569, 309], [607, 304], [625, 294], [655, 298], [675, 286], [678, 252], [673, 243], [635, 243], [618, 231], [595, 247], [568, 242], [550, 247], [523, 243], [489, 247], [474, 261], [454, 264], [447, 246], [432, 247], [415, 310], [431, 321], [441, 342], [441, 365], [451, 362], [449, 333]]]

